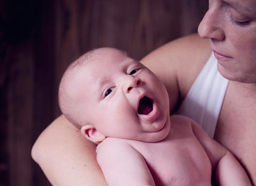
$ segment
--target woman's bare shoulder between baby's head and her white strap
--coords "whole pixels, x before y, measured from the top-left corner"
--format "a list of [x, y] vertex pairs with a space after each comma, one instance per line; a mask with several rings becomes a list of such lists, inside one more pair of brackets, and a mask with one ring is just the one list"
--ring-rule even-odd
[[196, 33], [170, 41], [149, 53], [141, 63], [164, 83], [175, 107], [186, 96], [211, 52], [209, 40]]

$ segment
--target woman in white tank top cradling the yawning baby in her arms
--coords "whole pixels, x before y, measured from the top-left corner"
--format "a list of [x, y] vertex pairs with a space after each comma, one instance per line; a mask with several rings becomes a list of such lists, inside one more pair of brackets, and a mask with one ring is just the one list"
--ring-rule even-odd
[[[218, 99], [222, 103], [219, 110], [213, 109], [217, 114], [209, 114], [215, 115], [211, 121], [215, 121], [216, 130], [210, 127], [208, 133], [238, 158], [256, 185], [256, 1], [209, 0], [209, 10], [198, 33], [203, 39], [194, 34], [172, 41], [141, 62], [167, 87], [170, 111], [175, 112], [181, 103], [178, 109], [181, 114], [190, 114], [186, 104], [190, 110], [197, 103], [200, 105], [202, 96], [195, 96], [191, 101], [190, 88], [207, 61], [207, 64], [216, 63], [211, 68], [217, 65], [219, 73], [230, 81], [224, 78], [217, 83], [213, 81], [214, 87], [221, 84], [223, 99]], [[211, 101], [211, 91], [210, 96], [205, 96], [206, 102]], [[184, 103], [186, 100], [190, 101]], [[192, 113], [192, 116], [196, 115], [195, 120], [204, 125], [200, 119], [207, 112], [198, 116]], [[53, 185], [106, 185], [95, 153], [95, 146], [60, 116], [39, 136], [32, 157]]]

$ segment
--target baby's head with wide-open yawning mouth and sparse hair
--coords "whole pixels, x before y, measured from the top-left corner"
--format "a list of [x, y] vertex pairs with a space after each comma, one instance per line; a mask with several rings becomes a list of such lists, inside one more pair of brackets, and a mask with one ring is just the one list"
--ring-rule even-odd
[[163, 83], [118, 49], [94, 49], [71, 63], [61, 79], [59, 105], [95, 143], [105, 137], [156, 142], [169, 133]]

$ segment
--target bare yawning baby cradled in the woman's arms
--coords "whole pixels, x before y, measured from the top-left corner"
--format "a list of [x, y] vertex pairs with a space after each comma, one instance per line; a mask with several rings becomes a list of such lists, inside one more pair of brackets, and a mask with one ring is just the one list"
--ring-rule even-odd
[[100, 48], [67, 68], [62, 113], [97, 143], [108, 185], [251, 185], [234, 156], [193, 120], [169, 115], [163, 83], [125, 52]]

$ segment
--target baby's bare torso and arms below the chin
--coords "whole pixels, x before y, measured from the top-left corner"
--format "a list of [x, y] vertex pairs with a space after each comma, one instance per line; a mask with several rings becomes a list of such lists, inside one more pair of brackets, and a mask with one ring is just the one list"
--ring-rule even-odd
[[97, 160], [109, 185], [206, 186], [212, 174], [218, 185], [251, 185], [234, 156], [197, 123], [180, 115], [170, 121], [162, 141], [108, 137], [98, 145]]

